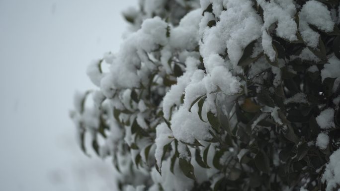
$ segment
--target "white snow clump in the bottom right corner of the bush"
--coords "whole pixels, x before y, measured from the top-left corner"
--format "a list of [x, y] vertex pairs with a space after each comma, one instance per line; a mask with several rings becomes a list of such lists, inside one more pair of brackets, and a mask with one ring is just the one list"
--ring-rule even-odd
[[326, 165], [321, 180], [327, 182], [326, 191], [334, 191], [337, 185], [340, 185], [340, 149], [330, 156], [330, 162]]

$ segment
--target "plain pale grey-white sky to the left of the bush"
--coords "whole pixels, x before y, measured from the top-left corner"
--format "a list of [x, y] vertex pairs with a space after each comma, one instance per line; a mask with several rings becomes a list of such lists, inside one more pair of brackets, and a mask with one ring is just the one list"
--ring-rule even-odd
[[[94, 86], [92, 59], [117, 52], [137, 0], [0, 0], [0, 190], [103, 191], [111, 165], [88, 159], [68, 111]], [[113, 190], [113, 189], [112, 189]]]

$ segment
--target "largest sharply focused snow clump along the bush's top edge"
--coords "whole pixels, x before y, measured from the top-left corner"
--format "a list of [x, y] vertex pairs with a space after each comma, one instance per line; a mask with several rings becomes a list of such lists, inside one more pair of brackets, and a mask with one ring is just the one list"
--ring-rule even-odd
[[213, 20], [211, 14], [204, 14], [200, 23], [200, 53], [203, 58], [211, 54], [224, 54], [227, 49], [228, 57], [234, 68], [238, 68], [243, 49], [261, 35], [261, 18], [248, 0], [224, 1], [227, 10], [221, 12], [220, 21], [214, 27], [206, 27]]

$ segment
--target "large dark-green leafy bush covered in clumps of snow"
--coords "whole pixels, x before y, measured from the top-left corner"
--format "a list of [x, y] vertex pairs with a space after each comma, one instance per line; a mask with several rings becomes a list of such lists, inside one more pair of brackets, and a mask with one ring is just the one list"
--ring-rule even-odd
[[123, 191], [339, 190], [339, 11], [140, 0], [119, 53], [88, 66], [98, 90], [75, 97], [82, 149], [89, 132]]

